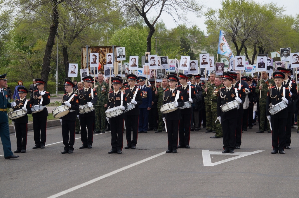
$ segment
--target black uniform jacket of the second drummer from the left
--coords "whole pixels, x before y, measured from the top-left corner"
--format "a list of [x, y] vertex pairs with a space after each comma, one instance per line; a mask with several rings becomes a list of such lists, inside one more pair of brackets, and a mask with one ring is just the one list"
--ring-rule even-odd
[[[40, 95], [39, 90], [33, 91], [32, 96], [30, 97], [31, 107], [34, 105], [39, 105], [41, 98], [43, 98], [42, 106], [50, 104], [50, 93], [46, 92], [45, 90], [44, 92], [44, 95]], [[44, 110], [42, 110], [41, 112], [33, 113], [32, 117], [48, 117], [48, 109], [44, 107]]]

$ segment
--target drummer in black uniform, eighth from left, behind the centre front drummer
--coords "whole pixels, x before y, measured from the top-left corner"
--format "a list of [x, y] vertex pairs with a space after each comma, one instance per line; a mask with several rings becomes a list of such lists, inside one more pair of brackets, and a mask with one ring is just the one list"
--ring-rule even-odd
[[[179, 81], [181, 85], [177, 86], [177, 89], [182, 92], [183, 101], [184, 102], [194, 102], [196, 103], [196, 90], [194, 86], [190, 86], [191, 90], [189, 89], [189, 84], [187, 83], [188, 76], [184, 75], [183, 73], [179, 72]], [[189, 97], [189, 92], [191, 92], [191, 98]], [[189, 142], [190, 142], [190, 120], [191, 115], [193, 114], [192, 107], [181, 109], [181, 120], [179, 124], [179, 146], [178, 148], [186, 147], [190, 149]]]

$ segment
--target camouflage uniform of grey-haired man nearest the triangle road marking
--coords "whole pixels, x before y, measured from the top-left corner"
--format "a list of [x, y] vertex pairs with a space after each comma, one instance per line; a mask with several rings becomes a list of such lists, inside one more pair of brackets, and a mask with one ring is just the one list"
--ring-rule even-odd
[[[211, 95], [212, 128], [215, 129], [216, 131], [215, 134], [216, 137], [221, 137], [223, 135], [221, 124], [217, 120], [217, 99], [218, 99], [219, 89], [222, 87], [223, 85], [220, 84], [218, 87], [216, 87], [215, 90], [213, 90], [213, 93]], [[215, 123], [216, 120], [217, 122]]]

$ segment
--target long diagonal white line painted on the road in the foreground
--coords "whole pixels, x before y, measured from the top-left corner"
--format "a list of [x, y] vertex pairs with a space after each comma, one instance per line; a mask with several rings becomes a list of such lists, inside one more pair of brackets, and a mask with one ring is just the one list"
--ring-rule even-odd
[[50, 196], [50, 197], [47, 197], [47, 198], [60, 197], [61, 195], [67, 194], [67, 193], [69, 193], [69, 192], [71, 192], [71, 191], [77, 190], [77, 189], [82, 188], [82, 187], [84, 187], [84, 186], [86, 186], [86, 185], [89, 185], [89, 184], [92, 184], [92, 183], [94, 183], [94, 182], [97, 182], [97, 181], [99, 181], [99, 180], [101, 180], [101, 179], [104, 179], [104, 178], [106, 178], [106, 177], [109, 177], [109, 176], [111, 176], [111, 175], [113, 175], [113, 174], [116, 174], [116, 173], [118, 173], [118, 172], [120, 172], [120, 171], [123, 171], [123, 170], [126, 170], [126, 169], [128, 169], [128, 168], [131, 168], [131, 167], [133, 167], [133, 166], [135, 166], [135, 165], [144, 163], [144, 162], [146, 162], [146, 161], [148, 161], [148, 160], [151, 160], [151, 159], [153, 159], [153, 158], [155, 158], [155, 157], [158, 157], [158, 156], [160, 156], [160, 155], [163, 155], [163, 154], [165, 154], [165, 151], [162, 152], [162, 153], [153, 155], [153, 156], [151, 156], [151, 157], [145, 158], [144, 160], [140, 160], [140, 161], [138, 161], [138, 162], [132, 163], [132, 164], [127, 165], [127, 166], [125, 166], [125, 167], [123, 167], [123, 168], [120, 168], [120, 169], [117, 169], [117, 170], [115, 170], [115, 171], [112, 171], [112, 172], [110, 172], [110, 173], [104, 174], [104, 175], [102, 175], [102, 176], [100, 176], [100, 177], [97, 177], [97, 178], [95, 178], [95, 179], [93, 179], [93, 180], [90, 180], [90, 181], [85, 182], [85, 183], [83, 183], [83, 184], [74, 186], [73, 188], [69, 188], [68, 190], [65, 190], [65, 191], [62, 191], [62, 192], [60, 192], [60, 193], [54, 194], [54, 195], [52, 195], [52, 196]]

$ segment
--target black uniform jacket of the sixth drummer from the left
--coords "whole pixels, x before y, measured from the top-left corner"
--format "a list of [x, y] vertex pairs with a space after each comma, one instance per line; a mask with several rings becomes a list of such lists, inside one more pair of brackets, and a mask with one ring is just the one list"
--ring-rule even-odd
[[141, 90], [138, 89], [138, 86], [135, 86], [135, 88], [133, 88], [133, 92], [131, 92], [131, 88], [127, 88], [127, 89], [125, 89], [125, 96], [127, 98], [127, 103], [130, 103], [131, 100], [133, 100], [133, 97], [134, 97], [134, 94], [136, 91], [137, 91], [137, 95], [135, 97], [135, 101], [137, 102], [137, 104], [135, 104], [134, 109], [125, 112], [125, 115], [139, 115], [139, 105], [141, 105], [141, 103], [142, 103]]

